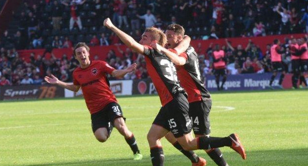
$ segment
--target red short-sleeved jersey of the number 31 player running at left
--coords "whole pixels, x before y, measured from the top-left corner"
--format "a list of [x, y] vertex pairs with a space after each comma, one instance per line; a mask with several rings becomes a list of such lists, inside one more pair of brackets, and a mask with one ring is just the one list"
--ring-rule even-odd
[[91, 61], [89, 67], [78, 67], [73, 72], [74, 85], [80, 85], [90, 114], [99, 112], [110, 102], [117, 102], [106, 77], [106, 73], [114, 70], [104, 61]]

